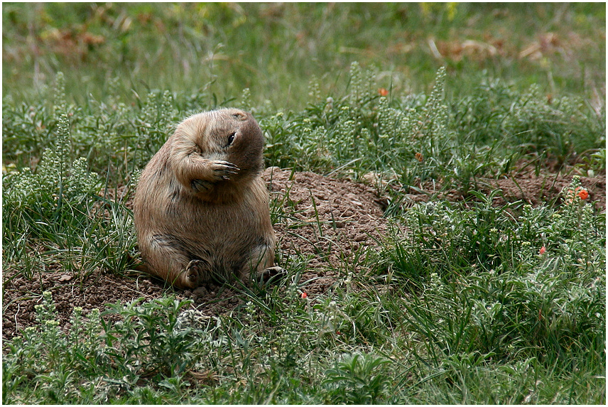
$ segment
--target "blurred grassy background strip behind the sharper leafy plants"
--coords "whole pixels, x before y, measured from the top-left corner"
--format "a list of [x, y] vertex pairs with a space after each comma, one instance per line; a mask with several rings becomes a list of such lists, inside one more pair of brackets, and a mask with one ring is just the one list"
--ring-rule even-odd
[[313, 75], [343, 92], [357, 60], [391, 92], [428, 91], [445, 66], [453, 94], [489, 75], [599, 104], [605, 18], [602, 3], [4, 3], [2, 91], [35, 97], [63, 71], [76, 103], [170, 89], [214, 105], [249, 88], [297, 110]]

